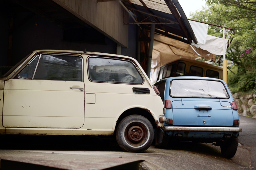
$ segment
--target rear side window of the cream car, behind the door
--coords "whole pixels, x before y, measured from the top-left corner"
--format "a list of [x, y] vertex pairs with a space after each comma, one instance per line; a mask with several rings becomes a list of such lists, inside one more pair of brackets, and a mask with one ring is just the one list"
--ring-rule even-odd
[[144, 82], [136, 66], [128, 60], [90, 57], [87, 63], [91, 81], [128, 84]]

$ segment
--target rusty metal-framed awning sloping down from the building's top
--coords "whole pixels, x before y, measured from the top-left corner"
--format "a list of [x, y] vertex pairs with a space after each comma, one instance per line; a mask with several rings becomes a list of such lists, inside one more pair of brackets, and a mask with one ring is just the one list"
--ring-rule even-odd
[[[106, 2], [109, 0], [98, 0]], [[164, 2], [165, 1], [165, 2]], [[155, 24], [155, 32], [169, 38], [191, 44], [197, 43], [193, 29], [177, 0], [149, 1], [149, 0], [123, 0], [119, 1], [128, 12], [133, 15], [134, 22], [124, 24], [137, 24], [141, 28], [150, 30]], [[159, 7], [160, 6], [160, 7]], [[166, 8], [169, 10], [167, 11]]]

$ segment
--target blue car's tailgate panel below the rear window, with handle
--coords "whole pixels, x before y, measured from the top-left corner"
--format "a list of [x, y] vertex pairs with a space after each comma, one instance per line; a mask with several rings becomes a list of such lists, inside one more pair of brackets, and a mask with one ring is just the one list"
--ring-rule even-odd
[[233, 112], [229, 102], [172, 101], [173, 125], [178, 126], [233, 126]]

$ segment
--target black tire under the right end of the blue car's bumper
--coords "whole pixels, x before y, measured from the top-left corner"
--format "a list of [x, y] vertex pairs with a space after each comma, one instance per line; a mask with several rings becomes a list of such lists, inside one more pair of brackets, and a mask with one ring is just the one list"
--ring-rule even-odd
[[225, 158], [233, 158], [236, 154], [238, 138], [230, 138], [220, 146], [221, 154]]

